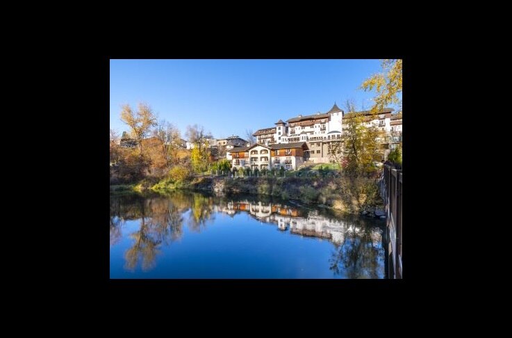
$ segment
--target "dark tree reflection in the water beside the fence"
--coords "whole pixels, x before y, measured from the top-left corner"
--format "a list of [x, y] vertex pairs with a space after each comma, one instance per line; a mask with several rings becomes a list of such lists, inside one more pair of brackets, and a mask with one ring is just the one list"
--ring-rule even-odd
[[329, 259], [330, 269], [347, 278], [379, 278], [380, 259], [383, 259], [381, 230], [363, 221], [351, 220], [345, 232], [345, 241], [336, 245]]

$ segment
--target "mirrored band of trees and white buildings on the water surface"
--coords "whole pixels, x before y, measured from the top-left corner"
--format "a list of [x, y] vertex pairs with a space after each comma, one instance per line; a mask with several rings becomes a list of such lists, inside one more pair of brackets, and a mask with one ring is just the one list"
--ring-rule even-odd
[[[124, 268], [135, 271], [140, 264], [142, 271], [149, 271], [163, 248], [183, 239], [183, 225], [190, 232], [200, 233], [209, 226], [215, 227], [215, 215], [221, 213], [232, 218], [246, 214], [261, 223], [275, 224], [279, 232], [331, 242], [329, 269], [333, 277], [383, 278], [383, 223], [359, 217], [340, 218], [326, 209], [259, 196], [217, 198], [181, 192], [167, 196], [111, 196], [110, 248], [126, 236], [130, 245], [124, 252]], [[138, 227], [123, 234], [128, 220], [136, 220]], [[240, 223], [244, 221], [240, 219]]]

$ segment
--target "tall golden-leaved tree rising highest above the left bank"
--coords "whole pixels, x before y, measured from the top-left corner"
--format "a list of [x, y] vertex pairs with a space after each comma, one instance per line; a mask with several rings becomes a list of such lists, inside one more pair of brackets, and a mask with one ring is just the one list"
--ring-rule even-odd
[[156, 125], [156, 115], [145, 103], [138, 104], [138, 111], [133, 111], [129, 104], [123, 104], [121, 108], [121, 120], [130, 127], [132, 137], [137, 140], [142, 157], [142, 140], [149, 133], [149, 129]]

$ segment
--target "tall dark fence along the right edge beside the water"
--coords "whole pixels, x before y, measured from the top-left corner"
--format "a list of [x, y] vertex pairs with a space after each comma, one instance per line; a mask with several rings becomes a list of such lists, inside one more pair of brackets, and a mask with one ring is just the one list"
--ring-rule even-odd
[[381, 194], [386, 204], [388, 277], [402, 278], [402, 170], [385, 165]]

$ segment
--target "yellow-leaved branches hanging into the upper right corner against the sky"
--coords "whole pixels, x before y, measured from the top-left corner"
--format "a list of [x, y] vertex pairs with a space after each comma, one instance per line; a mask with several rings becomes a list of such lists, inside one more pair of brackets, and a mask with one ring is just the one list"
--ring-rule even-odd
[[377, 114], [389, 104], [397, 104], [397, 111], [402, 111], [402, 59], [384, 59], [381, 61], [383, 72], [373, 74], [366, 79], [361, 88], [365, 91], [375, 90], [372, 113]]

